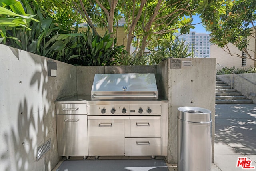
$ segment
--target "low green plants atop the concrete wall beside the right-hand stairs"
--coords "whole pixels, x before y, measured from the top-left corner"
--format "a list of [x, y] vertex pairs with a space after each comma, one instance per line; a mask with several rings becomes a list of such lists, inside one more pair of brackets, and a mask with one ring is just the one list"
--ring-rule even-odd
[[256, 68], [255, 67], [250, 67], [250, 68], [235, 68], [234, 66], [232, 68], [222, 68], [221, 70], [217, 71], [217, 75], [221, 74], [231, 74], [231, 72], [235, 74], [242, 74], [242, 73], [256, 73]]

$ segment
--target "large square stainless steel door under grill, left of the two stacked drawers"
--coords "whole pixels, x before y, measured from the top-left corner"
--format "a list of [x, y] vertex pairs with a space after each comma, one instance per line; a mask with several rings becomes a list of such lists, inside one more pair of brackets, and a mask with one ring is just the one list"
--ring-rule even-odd
[[124, 120], [88, 119], [89, 155], [124, 155]]

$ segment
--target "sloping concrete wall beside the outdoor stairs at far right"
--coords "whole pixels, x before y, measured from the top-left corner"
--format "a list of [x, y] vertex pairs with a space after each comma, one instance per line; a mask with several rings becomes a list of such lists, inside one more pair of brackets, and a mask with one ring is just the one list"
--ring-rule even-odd
[[[226, 82], [228, 85], [231, 85], [231, 74], [217, 75], [217, 77]], [[252, 93], [256, 93], [256, 73], [233, 74], [232, 86], [237, 91], [240, 91], [242, 95], [245, 95], [248, 99], [252, 99], [253, 103], [256, 104], [256, 96], [252, 96]]]

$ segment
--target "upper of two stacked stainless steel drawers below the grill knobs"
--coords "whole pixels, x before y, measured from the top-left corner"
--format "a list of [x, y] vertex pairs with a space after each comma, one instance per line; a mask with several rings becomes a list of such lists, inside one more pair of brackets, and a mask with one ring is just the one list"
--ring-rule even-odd
[[124, 121], [125, 137], [161, 137], [160, 116], [131, 116]]

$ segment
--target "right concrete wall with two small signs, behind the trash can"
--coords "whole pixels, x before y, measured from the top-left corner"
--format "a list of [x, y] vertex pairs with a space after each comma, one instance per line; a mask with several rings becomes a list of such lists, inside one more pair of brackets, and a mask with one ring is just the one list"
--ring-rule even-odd
[[[181, 60], [181, 68], [171, 66], [172, 60]], [[183, 62], [188, 62], [183, 66]], [[177, 109], [182, 106], [202, 107], [212, 111], [212, 163], [214, 161], [215, 133], [215, 58], [180, 58], [164, 61], [168, 64], [168, 163], [177, 162]], [[187, 64], [187, 63], [186, 63]], [[185, 64], [185, 65], [186, 65]], [[166, 68], [167, 67], [167, 68]]]

